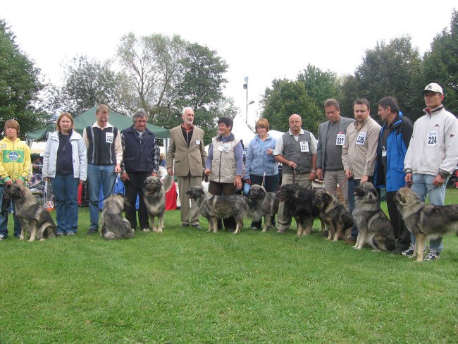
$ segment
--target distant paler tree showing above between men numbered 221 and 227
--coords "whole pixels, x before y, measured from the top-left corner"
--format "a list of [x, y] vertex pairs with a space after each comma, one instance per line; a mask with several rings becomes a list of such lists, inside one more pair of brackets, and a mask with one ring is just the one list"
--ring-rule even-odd
[[318, 109], [323, 109], [327, 99], [340, 100], [340, 82], [337, 75], [330, 70], [323, 72], [320, 68], [308, 64], [307, 68], [297, 75], [297, 81], [304, 83], [307, 94], [314, 100]]

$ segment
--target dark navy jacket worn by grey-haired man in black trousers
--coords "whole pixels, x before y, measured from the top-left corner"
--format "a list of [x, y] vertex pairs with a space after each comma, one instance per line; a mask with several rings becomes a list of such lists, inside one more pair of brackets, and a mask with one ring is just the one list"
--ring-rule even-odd
[[156, 137], [151, 130], [144, 130], [142, 142], [134, 126], [123, 130], [124, 168], [127, 172], [149, 172], [154, 168], [153, 149]]

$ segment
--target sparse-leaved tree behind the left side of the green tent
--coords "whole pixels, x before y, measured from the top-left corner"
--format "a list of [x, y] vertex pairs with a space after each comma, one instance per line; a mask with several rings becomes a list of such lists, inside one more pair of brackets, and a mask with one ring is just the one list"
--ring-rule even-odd
[[51, 89], [54, 111], [68, 111], [78, 115], [99, 104], [109, 104], [117, 110], [118, 75], [109, 61], [101, 63], [87, 56], [77, 56], [63, 66], [64, 85]]

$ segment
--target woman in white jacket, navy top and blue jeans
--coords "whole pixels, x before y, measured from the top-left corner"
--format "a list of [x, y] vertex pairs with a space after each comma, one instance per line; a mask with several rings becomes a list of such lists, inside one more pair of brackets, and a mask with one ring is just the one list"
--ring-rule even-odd
[[87, 176], [87, 151], [80, 134], [73, 130], [68, 112], [57, 119], [57, 131], [49, 135], [43, 156], [43, 178], [54, 191], [57, 236], [78, 231], [78, 184]]

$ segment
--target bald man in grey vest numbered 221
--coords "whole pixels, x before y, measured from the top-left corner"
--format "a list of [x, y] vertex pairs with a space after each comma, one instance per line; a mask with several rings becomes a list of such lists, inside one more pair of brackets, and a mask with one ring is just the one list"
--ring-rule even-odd
[[[316, 178], [316, 138], [302, 129], [302, 118], [293, 114], [289, 118], [290, 129], [277, 140], [273, 155], [283, 164], [282, 185], [293, 183], [311, 190]], [[291, 216], [285, 214], [285, 202], [278, 207], [278, 233], [285, 233], [291, 226]]]

